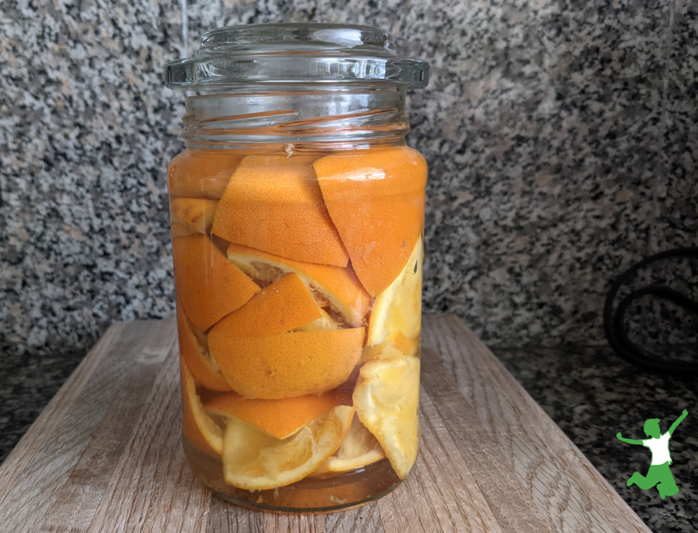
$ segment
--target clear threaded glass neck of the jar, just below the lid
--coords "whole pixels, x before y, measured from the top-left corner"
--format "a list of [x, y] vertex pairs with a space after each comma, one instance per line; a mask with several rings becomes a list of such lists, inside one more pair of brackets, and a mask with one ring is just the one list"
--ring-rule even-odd
[[405, 92], [391, 89], [240, 87], [187, 96], [182, 136], [189, 148], [267, 147], [288, 151], [404, 144]]

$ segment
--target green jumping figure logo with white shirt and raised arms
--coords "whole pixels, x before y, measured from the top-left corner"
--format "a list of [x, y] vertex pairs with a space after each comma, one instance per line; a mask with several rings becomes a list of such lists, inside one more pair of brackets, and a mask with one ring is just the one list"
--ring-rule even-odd
[[681, 416], [671, 424], [669, 431], [663, 435], [660, 432], [659, 419], [649, 419], [645, 421], [643, 429], [645, 435], [650, 437], [648, 439], [626, 439], [620, 432], [616, 433], [618, 440], [628, 442], [628, 444], [647, 446], [652, 452], [652, 463], [650, 464], [650, 469], [647, 471], [647, 475], [643, 476], [639, 472], [635, 472], [630, 476], [628, 482], [625, 483], [627, 486], [637, 485], [642, 490], [647, 490], [648, 488], [656, 486], [662, 500], [667, 496], [674, 496], [678, 493], [678, 487], [676, 486], [676, 481], [674, 481], [674, 474], [671, 474], [671, 470], [669, 470], [669, 465], [671, 465], [669, 439], [671, 439], [671, 435], [674, 435], [674, 430], [676, 430], [678, 424], [685, 419], [687, 414], [688, 411], [684, 409]]

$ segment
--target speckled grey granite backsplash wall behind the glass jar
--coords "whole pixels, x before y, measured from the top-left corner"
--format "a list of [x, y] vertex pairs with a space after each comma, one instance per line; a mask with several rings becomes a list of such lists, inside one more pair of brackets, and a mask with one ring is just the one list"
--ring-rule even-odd
[[428, 59], [426, 310], [489, 345], [604, 343], [609, 280], [698, 243], [695, 1], [3, 1], [0, 351], [82, 350], [174, 306], [166, 61], [249, 22], [353, 22]]

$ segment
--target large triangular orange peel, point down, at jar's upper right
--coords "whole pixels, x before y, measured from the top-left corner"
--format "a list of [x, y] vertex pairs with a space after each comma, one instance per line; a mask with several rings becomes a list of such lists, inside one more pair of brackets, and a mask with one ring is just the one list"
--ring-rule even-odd
[[313, 163], [362, 285], [376, 296], [405, 266], [424, 220], [426, 162], [409, 147], [344, 151]]

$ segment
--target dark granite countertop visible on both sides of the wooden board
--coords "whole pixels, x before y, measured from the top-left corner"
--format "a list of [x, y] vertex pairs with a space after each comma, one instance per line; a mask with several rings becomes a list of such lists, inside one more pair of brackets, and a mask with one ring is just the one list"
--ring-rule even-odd
[[[496, 348], [493, 352], [653, 531], [694, 532], [698, 520], [698, 381], [650, 375], [603, 347]], [[0, 359], [0, 461], [82, 360], [82, 353]], [[667, 430], [689, 416], [671, 440], [671, 471], [680, 490], [662, 501], [656, 490], [626, 487], [646, 473], [648, 450], [616, 440], [641, 438], [648, 418]]]

